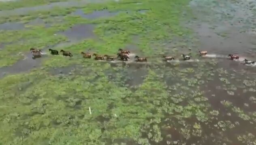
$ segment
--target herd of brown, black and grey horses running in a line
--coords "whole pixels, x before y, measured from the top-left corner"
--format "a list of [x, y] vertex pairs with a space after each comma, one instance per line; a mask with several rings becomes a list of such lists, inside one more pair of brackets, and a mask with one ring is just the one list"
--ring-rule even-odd
[[[42, 51], [41, 50], [37, 50], [35, 48], [31, 48], [30, 49], [31, 53], [33, 54], [34, 58], [38, 58], [38, 57], [41, 57], [42, 55]], [[49, 49], [49, 52], [51, 52], [52, 55], [58, 55], [59, 52], [58, 50], [53, 50], [53, 49]], [[71, 54], [71, 52], [68, 52], [68, 51], [64, 51], [64, 50], [60, 50], [60, 52], [62, 52], [62, 55], [63, 56], [69, 56], [69, 57], [72, 57], [73, 55]], [[81, 55], [83, 56], [83, 58], [92, 58], [92, 56], [94, 56], [94, 59], [95, 60], [115, 60], [115, 59], [119, 59], [119, 60], [122, 60], [122, 61], [128, 61], [129, 58], [129, 54], [130, 54], [130, 51], [129, 50], [123, 50], [123, 49], [119, 49], [119, 52], [117, 53], [117, 56], [109, 56], [109, 55], [99, 55], [97, 53], [90, 53], [90, 52], [81, 52]], [[199, 55], [201, 56], [204, 56], [207, 54], [207, 51], [199, 51]], [[183, 57], [183, 60], [190, 60], [190, 58], [192, 56], [190, 55], [185, 55], [185, 54], [182, 54], [181, 55]], [[229, 54], [228, 55], [230, 57], [231, 60], [238, 60], [239, 59], [239, 56], [238, 55], [233, 55], [233, 54]], [[134, 57], [136, 60], [136, 62], [147, 62], [147, 58], [145, 57], [139, 57], [139, 56], [135, 56]], [[175, 60], [175, 58], [173, 56], [163, 56], [164, 60]], [[244, 59], [245, 61], [245, 64], [255, 64], [255, 61], [252, 61], [252, 60], [247, 60], [247, 59]]]

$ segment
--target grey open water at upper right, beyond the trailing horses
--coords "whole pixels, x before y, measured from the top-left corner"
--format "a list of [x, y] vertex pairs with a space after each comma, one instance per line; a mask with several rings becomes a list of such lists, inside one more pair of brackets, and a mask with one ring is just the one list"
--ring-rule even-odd
[[[215, 54], [255, 57], [254, 4], [249, 1], [193, 0], [190, 6], [199, 21], [194, 22], [192, 28], [198, 35], [200, 49]], [[209, 17], [203, 16], [202, 12], [210, 13]]]

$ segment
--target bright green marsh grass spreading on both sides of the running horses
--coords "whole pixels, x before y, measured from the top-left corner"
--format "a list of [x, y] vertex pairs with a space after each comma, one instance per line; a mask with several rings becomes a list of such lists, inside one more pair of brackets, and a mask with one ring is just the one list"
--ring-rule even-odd
[[[85, 13], [118, 12], [93, 20], [70, 15], [78, 7], [1, 17], [1, 23], [20, 22], [26, 28], [0, 31], [0, 43], [6, 44], [0, 50], [0, 67], [15, 64], [23, 59], [19, 52], [29, 53], [32, 47], [44, 49], [69, 41], [60, 32], [77, 24], [94, 24], [96, 38], [53, 47], [72, 52], [73, 58], [52, 56], [45, 49], [47, 57], [40, 58], [41, 67], [0, 79], [0, 144], [253, 143], [250, 133], [256, 123], [252, 109], [256, 79], [237, 79], [244, 75], [218, 68], [216, 60], [168, 64], [159, 58], [158, 54], [166, 53], [178, 59], [181, 46], [194, 42], [192, 31], [182, 25], [192, 15], [188, 2], [123, 0], [79, 6]], [[14, 3], [9, 4], [15, 7]], [[148, 11], [142, 14], [138, 10]], [[28, 25], [36, 18], [44, 24]], [[44, 27], [46, 24], [50, 26]], [[166, 43], [173, 47], [162, 45]], [[83, 59], [80, 54], [91, 48], [92, 52], [115, 55], [128, 44], [137, 46], [131, 51], [152, 63], [111, 64]], [[195, 59], [196, 51], [190, 51]], [[52, 73], [70, 66], [74, 70], [66, 74]], [[143, 77], [143, 81], [131, 85], [130, 81], [138, 81], [136, 77]], [[228, 95], [231, 91], [234, 94]], [[235, 99], [241, 92], [244, 106]]]

